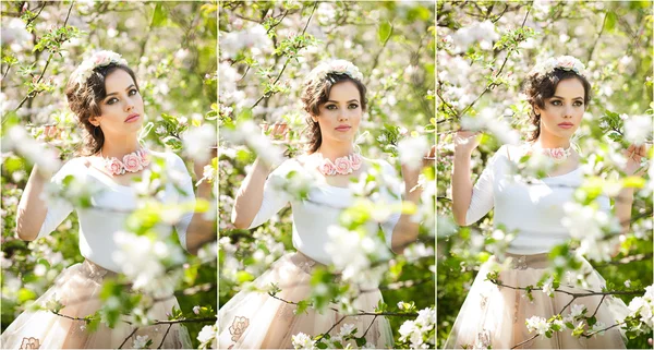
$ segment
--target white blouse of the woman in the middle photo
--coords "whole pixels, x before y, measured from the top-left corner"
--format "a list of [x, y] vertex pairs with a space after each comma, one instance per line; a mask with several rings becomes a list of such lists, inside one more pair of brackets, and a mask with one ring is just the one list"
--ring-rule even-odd
[[[387, 190], [387, 186], [382, 186], [378, 195], [371, 200], [375, 203], [386, 203], [389, 207], [401, 206], [401, 191], [392, 166], [384, 160], [364, 159], [368, 164], [378, 164], [384, 178], [396, 180], [393, 182], [395, 185], [389, 186], [390, 190]], [[351, 188], [339, 188], [327, 183], [313, 182], [310, 185], [307, 198], [304, 201], [298, 200], [280, 189], [280, 185], [284, 183], [289, 184], [288, 176], [291, 171], [296, 171], [301, 176], [310, 176], [308, 170], [296, 159], [288, 159], [275, 169], [266, 180], [262, 206], [252, 220], [250, 228], [252, 229], [266, 222], [272, 215], [290, 203], [293, 220], [293, 246], [308, 257], [322, 264], [329, 265], [332, 263], [332, 260], [325, 250], [326, 244], [330, 242], [328, 228], [332, 225], [339, 225], [340, 214], [354, 204], [355, 196], [353, 190]], [[374, 234], [380, 226], [384, 231], [386, 244], [390, 248], [392, 230], [400, 216], [401, 213], [393, 213], [380, 225], [368, 221], [366, 229]]]

